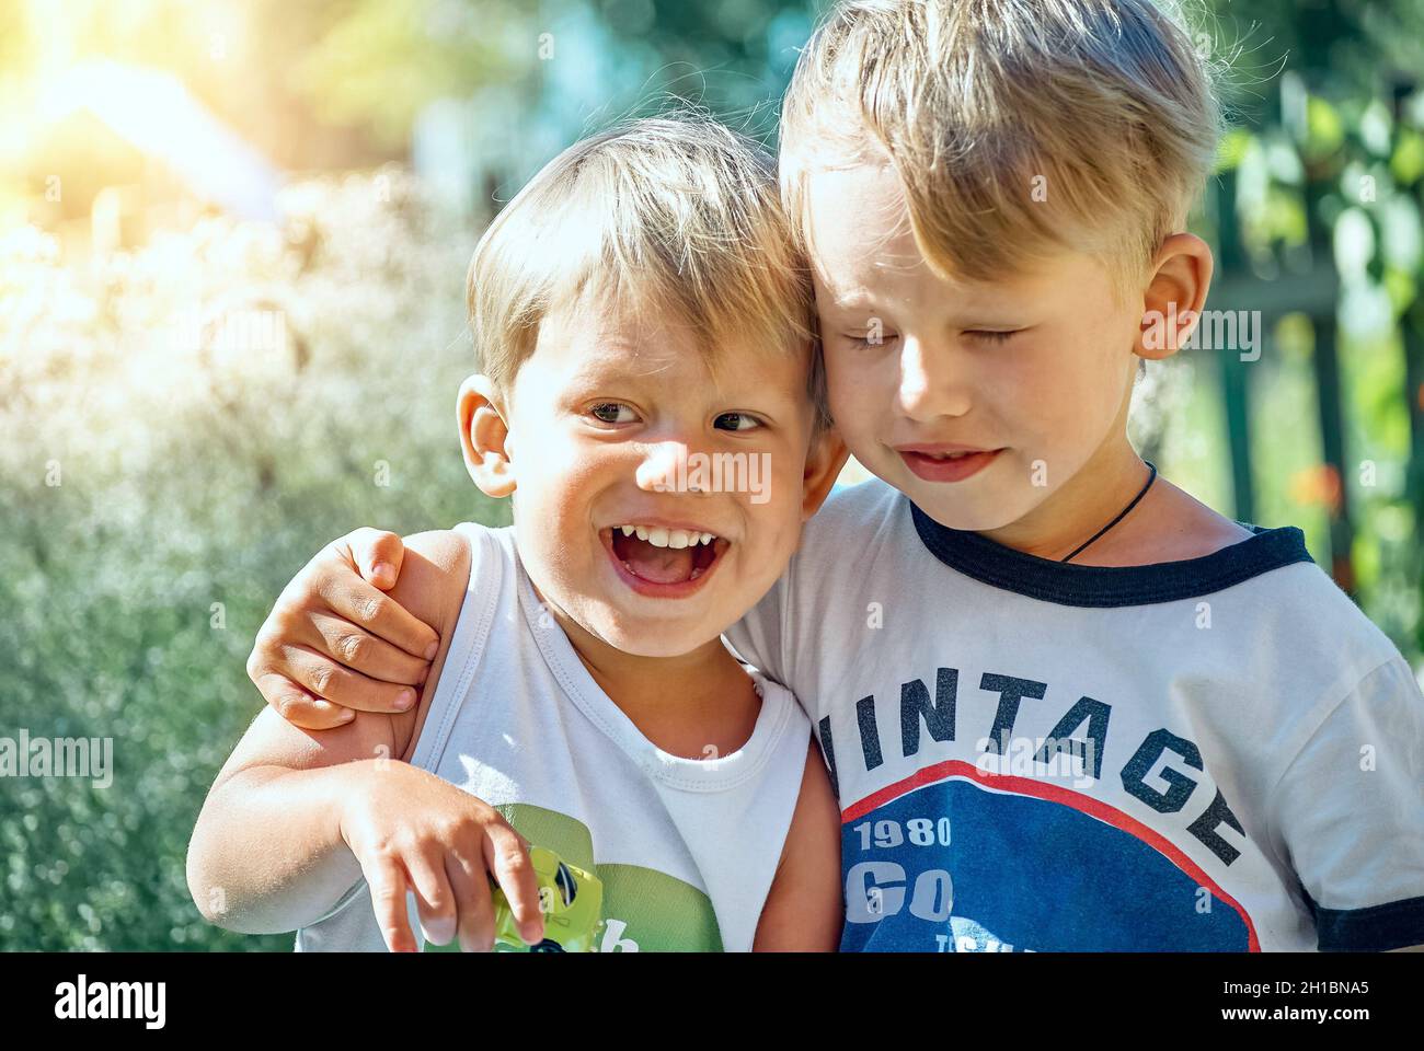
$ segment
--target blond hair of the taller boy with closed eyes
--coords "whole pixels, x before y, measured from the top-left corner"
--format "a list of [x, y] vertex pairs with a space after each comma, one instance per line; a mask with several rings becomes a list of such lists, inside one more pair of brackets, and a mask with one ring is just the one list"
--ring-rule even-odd
[[1152, 0], [842, 0], [786, 94], [782, 189], [805, 245], [810, 171], [887, 155], [940, 272], [1072, 248], [1131, 279], [1182, 229], [1219, 113], [1180, 11]]

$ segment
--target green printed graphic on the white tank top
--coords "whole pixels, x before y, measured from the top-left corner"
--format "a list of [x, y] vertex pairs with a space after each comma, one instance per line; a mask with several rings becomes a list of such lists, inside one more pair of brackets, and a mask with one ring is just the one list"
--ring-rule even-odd
[[[604, 884], [601, 953], [721, 953], [722, 934], [712, 900], [674, 876], [638, 864], [594, 864], [588, 827], [568, 815], [527, 803], [496, 807], [534, 846], [591, 872]], [[426, 946], [426, 951], [459, 944]]]

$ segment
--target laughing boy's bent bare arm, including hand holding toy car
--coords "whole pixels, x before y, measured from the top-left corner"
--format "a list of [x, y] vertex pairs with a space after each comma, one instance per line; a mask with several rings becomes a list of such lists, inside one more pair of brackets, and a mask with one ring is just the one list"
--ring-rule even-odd
[[365, 876], [392, 948], [414, 947], [404, 919], [407, 886], [431, 934], [453, 936], [459, 927], [463, 943], [484, 947], [493, 930], [486, 872], [493, 869], [525, 933], [540, 926], [524, 845], [513, 829], [474, 796], [400, 762], [439, 682], [468, 565], [456, 534], [407, 541], [392, 598], [444, 639], [416, 708], [360, 711], [350, 723], [318, 733], [268, 708], [244, 735], [188, 849], [188, 886], [206, 919], [246, 933], [295, 930], [320, 919]]

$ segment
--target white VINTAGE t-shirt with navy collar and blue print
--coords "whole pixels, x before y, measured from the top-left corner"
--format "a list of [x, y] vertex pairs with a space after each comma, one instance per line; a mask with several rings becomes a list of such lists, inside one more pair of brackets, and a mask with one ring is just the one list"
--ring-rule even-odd
[[1312, 560], [1061, 564], [837, 491], [728, 638], [805, 705], [843, 950], [1424, 943], [1424, 696]]

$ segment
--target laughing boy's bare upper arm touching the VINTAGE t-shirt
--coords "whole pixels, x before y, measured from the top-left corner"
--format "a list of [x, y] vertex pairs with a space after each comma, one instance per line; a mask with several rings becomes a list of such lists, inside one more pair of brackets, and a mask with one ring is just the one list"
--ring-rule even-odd
[[752, 948], [758, 953], [834, 953], [844, 914], [840, 810], [826, 763], [812, 742], [792, 826]]

